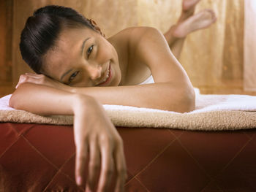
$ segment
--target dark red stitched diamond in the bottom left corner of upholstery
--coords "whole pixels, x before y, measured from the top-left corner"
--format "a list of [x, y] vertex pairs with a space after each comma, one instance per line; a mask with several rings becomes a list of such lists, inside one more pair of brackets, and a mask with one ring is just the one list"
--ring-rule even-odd
[[8, 178], [4, 191], [42, 191], [57, 172], [23, 137], [1, 156], [0, 164]]

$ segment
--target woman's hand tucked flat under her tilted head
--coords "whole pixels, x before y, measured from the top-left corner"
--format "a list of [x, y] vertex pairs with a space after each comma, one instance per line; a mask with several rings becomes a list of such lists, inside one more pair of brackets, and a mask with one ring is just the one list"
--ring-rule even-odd
[[64, 83], [50, 79], [49, 77], [45, 76], [44, 74], [34, 74], [34, 73], [21, 74], [19, 82], [16, 85], [16, 88], [18, 88], [18, 86], [24, 82], [31, 82], [31, 83], [39, 84], [39, 85], [46, 85], [46, 86], [49, 86], [52, 88], [59, 88], [64, 91], [68, 91], [67, 89], [69, 88], [68, 85], [65, 85]]

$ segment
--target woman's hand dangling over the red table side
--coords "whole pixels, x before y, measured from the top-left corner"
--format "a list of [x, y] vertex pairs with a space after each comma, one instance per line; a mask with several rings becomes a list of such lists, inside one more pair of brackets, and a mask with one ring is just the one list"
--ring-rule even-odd
[[83, 96], [78, 97], [74, 110], [77, 184], [84, 182], [84, 168], [90, 154], [86, 191], [96, 189], [99, 168], [97, 191], [108, 191], [113, 172], [117, 172], [115, 191], [124, 191], [127, 169], [122, 139], [96, 100], [91, 98], [91, 101], [83, 101]]

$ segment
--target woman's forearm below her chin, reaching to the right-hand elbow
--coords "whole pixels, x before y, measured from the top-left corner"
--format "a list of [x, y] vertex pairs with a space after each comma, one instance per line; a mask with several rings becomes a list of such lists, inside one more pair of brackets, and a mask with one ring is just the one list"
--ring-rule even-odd
[[70, 88], [72, 93], [94, 97], [101, 104], [147, 107], [159, 110], [189, 112], [195, 109], [193, 88], [158, 82], [118, 87]]

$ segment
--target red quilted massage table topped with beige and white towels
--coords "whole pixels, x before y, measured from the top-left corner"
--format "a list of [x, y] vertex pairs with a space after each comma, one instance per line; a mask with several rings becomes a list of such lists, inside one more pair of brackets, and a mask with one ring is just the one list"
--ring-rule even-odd
[[[255, 97], [242, 96], [239, 104], [249, 106], [236, 109], [226, 102], [236, 96], [214, 96], [214, 104], [208, 97], [187, 114], [105, 106], [124, 141], [126, 191], [256, 191]], [[83, 191], [75, 185], [72, 117], [0, 117], [0, 191]]]

